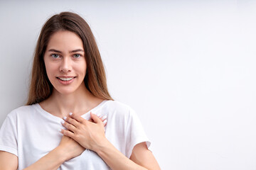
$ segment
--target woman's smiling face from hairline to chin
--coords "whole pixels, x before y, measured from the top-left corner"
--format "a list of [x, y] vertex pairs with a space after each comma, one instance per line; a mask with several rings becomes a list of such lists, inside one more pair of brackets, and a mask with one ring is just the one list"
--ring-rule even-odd
[[43, 60], [48, 79], [60, 94], [71, 94], [85, 86], [85, 50], [75, 33], [64, 30], [51, 35]]

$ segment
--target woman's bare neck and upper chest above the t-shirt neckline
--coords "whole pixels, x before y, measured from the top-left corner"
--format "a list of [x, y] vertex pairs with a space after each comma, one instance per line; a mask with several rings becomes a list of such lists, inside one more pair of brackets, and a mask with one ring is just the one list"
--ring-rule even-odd
[[102, 101], [101, 98], [93, 96], [86, 88], [75, 91], [72, 94], [60, 94], [53, 89], [51, 96], [39, 104], [45, 111], [63, 118], [70, 112], [78, 115], [85, 114]]

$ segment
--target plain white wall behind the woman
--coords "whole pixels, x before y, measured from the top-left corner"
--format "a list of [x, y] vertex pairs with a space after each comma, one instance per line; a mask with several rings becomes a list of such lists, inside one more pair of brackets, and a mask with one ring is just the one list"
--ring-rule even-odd
[[161, 169], [256, 169], [255, 1], [1, 1], [0, 125], [26, 103], [60, 11], [90, 24], [110, 94], [137, 111]]

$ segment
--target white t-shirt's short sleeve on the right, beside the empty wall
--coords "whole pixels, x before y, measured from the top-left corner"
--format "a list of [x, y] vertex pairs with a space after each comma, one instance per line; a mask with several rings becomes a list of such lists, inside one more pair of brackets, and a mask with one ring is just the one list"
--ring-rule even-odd
[[135, 145], [146, 142], [147, 147], [151, 145], [148, 137], [146, 137], [146, 133], [144, 132], [144, 128], [142, 127], [142, 123], [139, 120], [137, 114], [132, 108], [129, 109], [129, 118], [126, 127], [126, 136], [127, 136], [127, 145], [126, 145], [126, 156], [129, 158], [132, 155], [132, 149]]

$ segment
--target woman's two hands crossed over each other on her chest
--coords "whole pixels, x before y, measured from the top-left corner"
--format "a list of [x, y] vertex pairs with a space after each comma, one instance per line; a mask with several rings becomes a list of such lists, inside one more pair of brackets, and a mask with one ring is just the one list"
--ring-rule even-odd
[[85, 120], [80, 115], [70, 113], [63, 118], [62, 125], [67, 130], [61, 129], [63, 138], [59, 147], [63, 148], [66, 160], [78, 157], [85, 149], [95, 151], [107, 138], [105, 137], [105, 125], [107, 117], [90, 113], [91, 119]]

